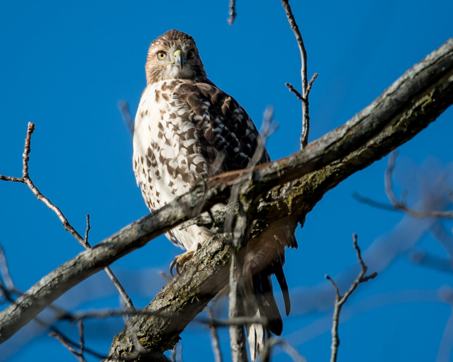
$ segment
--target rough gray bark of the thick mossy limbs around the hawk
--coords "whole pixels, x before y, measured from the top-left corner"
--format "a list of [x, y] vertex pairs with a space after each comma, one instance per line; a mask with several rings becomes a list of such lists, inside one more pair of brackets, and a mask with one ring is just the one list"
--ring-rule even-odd
[[[292, 228], [297, 222], [303, 224], [305, 215], [329, 189], [408, 141], [452, 103], [453, 39], [450, 39], [343, 126], [293, 156], [254, 168], [246, 193], [250, 197], [265, 197], [254, 215], [249, 243], [259, 234], [272, 233], [273, 227], [282, 223]], [[196, 217], [210, 205], [226, 200], [231, 186], [243, 181], [241, 176], [243, 171], [231, 171], [199, 182], [163, 209], [130, 224], [44, 276], [0, 313], [0, 343], [72, 286], [150, 239]], [[232, 252], [227, 239], [218, 234], [203, 245], [184, 266], [183, 276], [170, 281], [147, 306], [149, 311], [172, 314], [175, 318], [132, 318], [147, 350], [161, 353], [173, 348], [179, 333], [226, 285], [225, 267]], [[131, 355], [133, 343], [128, 335], [130, 331], [124, 330], [115, 337], [110, 359]], [[140, 361], [152, 360], [146, 358], [142, 356]]]

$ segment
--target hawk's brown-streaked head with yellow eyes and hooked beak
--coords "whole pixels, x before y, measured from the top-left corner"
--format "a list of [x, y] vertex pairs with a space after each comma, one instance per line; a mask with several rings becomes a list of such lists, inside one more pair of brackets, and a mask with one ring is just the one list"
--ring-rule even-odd
[[145, 65], [147, 84], [165, 79], [203, 79], [206, 72], [193, 38], [169, 30], [151, 42]]

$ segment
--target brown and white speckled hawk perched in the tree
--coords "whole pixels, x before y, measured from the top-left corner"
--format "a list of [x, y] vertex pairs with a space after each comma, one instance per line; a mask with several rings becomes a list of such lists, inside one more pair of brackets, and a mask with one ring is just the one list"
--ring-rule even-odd
[[[145, 72], [147, 85], [135, 116], [133, 167], [137, 185], [153, 212], [189, 191], [198, 180], [212, 176], [212, 172], [246, 168], [260, 135], [236, 100], [207, 79], [198, 48], [188, 34], [173, 29], [154, 40]], [[222, 162], [213, 167], [217, 159]], [[270, 157], [264, 150], [260, 163], [265, 162], [270, 162]], [[170, 267], [171, 271], [176, 263], [178, 271], [212, 233], [191, 225], [183, 230], [172, 229], [166, 236], [187, 250]], [[251, 298], [244, 298], [244, 310], [250, 316], [264, 314], [270, 320], [270, 332], [280, 335], [283, 323], [270, 275], [277, 277], [288, 315], [288, 286], [282, 269], [284, 247], [295, 248], [297, 242], [285, 225], [278, 225], [266, 238], [263, 247], [246, 257]], [[270, 249], [278, 252], [266, 252]], [[251, 299], [258, 303], [251, 303]], [[266, 331], [261, 324], [247, 325], [246, 329], [255, 360], [264, 347]]]

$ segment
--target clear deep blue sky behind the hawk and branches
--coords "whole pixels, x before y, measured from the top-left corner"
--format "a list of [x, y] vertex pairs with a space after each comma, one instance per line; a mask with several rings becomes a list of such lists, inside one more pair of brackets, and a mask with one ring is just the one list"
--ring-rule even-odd
[[[448, 0], [291, 5], [308, 52], [308, 74], [319, 73], [310, 94], [310, 141], [343, 124], [452, 36], [453, 2]], [[80, 233], [85, 215], [91, 215], [92, 243], [147, 214], [132, 171], [132, 139], [117, 103], [126, 100], [135, 114], [145, 87], [149, 43], [173, 28], [195, 38], [208, 77], [234, 96], [258, 126], [265, 107], [274, 105], [280, 126], [268, 141], [272, 159], [296, 152], [300, 102], [284, 83], [300, 89], [300, 57], [284, 10], [277, 0], [239, 0], [236, 11], [230, 26], [227, 0], [3, 4], [0, 174], [20, 176], [27, 123], [34, 122], [30, 176]], [[408, 190], [414, 205], [446, 205], [444, 191], [453, 187], [452, 117], [452, 109], [447, 110], [400, 148], [395, 189], [397, 195]], [[386, 162], [376, 162], [329, 191], [304, 228], [297, 229], [299, 249], [287, 253], [293, 310], [284, 319], [283, 336], [310, 362], [330, 355], [333, 294], [324, 274], [335, 276], [343, 290], [349, 285], [356, 263], [352, 233], [359, 236], [370, 271], [380, 275], [359, 286], [347, 303], [338, 361], [434, 360], [440, 346], [448, 350], [448, 333], [442, 336], [451, 306], [439, 295], [448, 294], [453, 274], [414, 264], [409, 255], [415, 247], [446, 257], [439, 230], [451, 239], [453, 224], [413, 220], [355, 201], [355, 191], [386, 201]], [[1, 182], [0, 204], [0, 242], [19, 288], [27, 290], [82, 250], [26, 186]], [[112, 269], [135, 304], [144, 306], [164, 285], [158, 271], [167, 271], [179, 252], [160, 237]], [[59, 303], [70, 310], [117, 306], [109, 283], [98, 273]], [[59, 326], [76, 338], [74, 326]], [[106, 353], [121, 328], [120, 320], [89, 322], [87, 345]], [[212, 360], [204, 327], [191, 324], [182, 338], [184, 361]], [[226, 330], [221, 339], [228, 359]], [[1, 345], [0, 356], [14, 362], [74, 360], [34, 325]], [[438, 361], [448, 361], [445, 356], [441, 353], [444, 359]]]

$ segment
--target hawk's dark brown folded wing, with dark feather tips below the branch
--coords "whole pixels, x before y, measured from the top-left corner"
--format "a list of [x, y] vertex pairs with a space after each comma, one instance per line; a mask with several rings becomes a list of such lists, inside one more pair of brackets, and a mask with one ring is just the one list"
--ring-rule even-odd
[[[225, 157], [219, 169], [215, 171], [226, 172], [247, 167], [257, 149], [260, 135], [249, 115], [234, 98], [212, 83], [183, 83], [173, 97], [176, 97], [180, 105], [188, 110], [185, 117], [195, 125], [194, 133], [190, 136], [195, 136], [197, 139], [197, 151], [204, 158], [208, 169], [212, 168], [220, 153]], [[270, 162], [270, 157], [264, 149], [258, 163], [265, 162]], [[286, 235], [287, 233], [284, 232], [279, 234], [275, 235], [275, 239], [280, 243], [297, 248], [294, 234]], [[270, 275], [275, 274], [280, 284], [284, 295], [285, 311], [288, 315], [290, 301], [288, 285], [282, 269], [283, 264], [284, 251], [276, 256], [268, 267], [252, 276], [252, 287], [255, 295], [258, 296], [260, 309], [271, 319], [269, 328], [277, 335], [281, 334], [283, 324], [272, 293]], [[252, 329], [250, 331], [252, 333]]]

